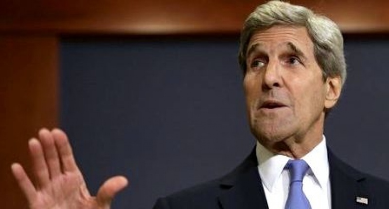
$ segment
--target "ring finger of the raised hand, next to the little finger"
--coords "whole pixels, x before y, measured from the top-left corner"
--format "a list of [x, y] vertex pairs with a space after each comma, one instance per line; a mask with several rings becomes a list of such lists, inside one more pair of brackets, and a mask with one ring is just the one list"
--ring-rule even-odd
[[33, 161], [36, 180], [40, 187], [44, 187], [50, 183], [50, 174], [43, 154], [42, 145], [37, 139], [30, 139], [28, 141], [28, 147]]

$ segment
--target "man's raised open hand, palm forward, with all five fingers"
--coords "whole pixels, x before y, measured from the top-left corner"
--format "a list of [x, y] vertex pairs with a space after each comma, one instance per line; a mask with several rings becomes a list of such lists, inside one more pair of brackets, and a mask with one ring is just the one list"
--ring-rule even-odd
[[115, 176], [91, 196], [60, 129], [41, 129], [38, 139], [30, 139], [28, 146], [35, 185], [20, 164], [12, 164], [11, 169], [30, 209], [109, 209], [114, 195], [127, 185], [125, 177]]

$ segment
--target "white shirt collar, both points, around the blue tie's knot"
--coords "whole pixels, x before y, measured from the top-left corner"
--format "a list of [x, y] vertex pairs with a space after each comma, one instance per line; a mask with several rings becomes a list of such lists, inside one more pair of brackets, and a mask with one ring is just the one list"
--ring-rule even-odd
[[[258, 160], [258, 170], [265, 187], [272, 191], [276, 181], [280, 178], [283, 169], [290, 157], [276, 155], [267, 150], [257, 141], [256, 156]], [[309, 165], [308, 174], [314, 175], [320, 187], [327, 185], [329, 180], [329, 165], [326, 139], [323, 135], [321, 142], [301, 159]]]

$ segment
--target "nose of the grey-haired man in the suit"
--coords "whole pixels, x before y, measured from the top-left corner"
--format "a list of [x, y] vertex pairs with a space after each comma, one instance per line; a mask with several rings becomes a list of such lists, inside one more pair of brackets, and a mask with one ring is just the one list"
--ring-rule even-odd
[[280, 65], [276, 61], [269, 61], [263, 74], [263, 87], [271, 89], [274, 87], [281, 87]]

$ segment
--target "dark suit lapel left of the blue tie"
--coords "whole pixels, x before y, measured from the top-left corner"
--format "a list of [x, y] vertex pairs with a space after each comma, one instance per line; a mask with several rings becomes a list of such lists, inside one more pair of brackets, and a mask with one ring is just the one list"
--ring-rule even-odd
[[221, 179], [222, 209], [268, 209], [254, 151], [232, 173]]

